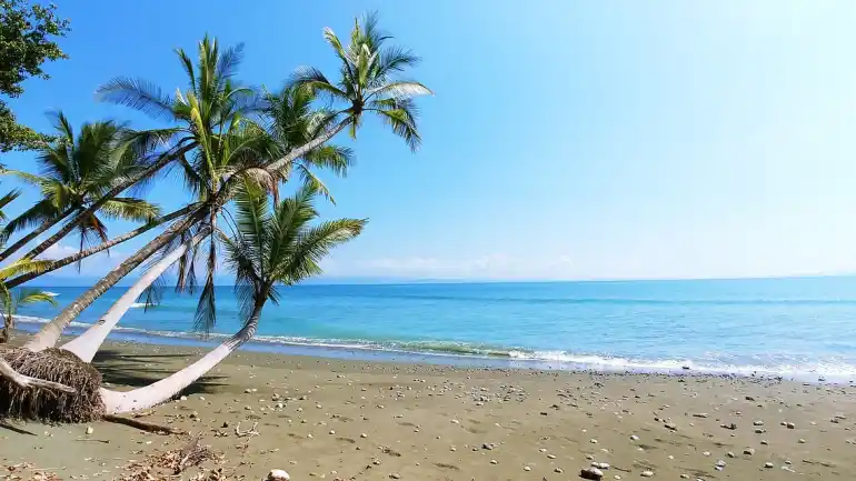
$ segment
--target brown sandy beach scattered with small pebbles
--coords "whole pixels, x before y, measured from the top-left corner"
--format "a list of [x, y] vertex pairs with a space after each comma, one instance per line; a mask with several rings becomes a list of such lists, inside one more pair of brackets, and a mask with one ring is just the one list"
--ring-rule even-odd
[[[200, 352], [113, 343], [96, 364], [111, 387], [137, 387]], [[691, 372], [461, 369], [239, 352], [181, 399], [139, 418], [188, 435], [109, 422], [6, 425], [0, 479], [170, 479], [168, 470], [130, 474], [197, 434], [222, 458], [173, 479], [208, 479], [222, 469], [228, 479], [261, 480], [282, 469], [292, 480], [540, 481], [579, 479], [593, 463], [606, 480], [853, 479], [854, 393]], [[253, 425], [258, 435], [246, 434]]]

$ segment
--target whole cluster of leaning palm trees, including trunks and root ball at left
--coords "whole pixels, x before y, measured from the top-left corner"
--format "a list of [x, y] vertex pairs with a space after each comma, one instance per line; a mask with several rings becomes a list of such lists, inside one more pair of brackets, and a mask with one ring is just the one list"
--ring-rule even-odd
[[[318, 198], [335, 201], [320, 172], [345, 176], [352, 166], [351, 149], [332, 140], [345, 131], [356, 139], [366, 117], [374, 116], [416, 150], [421, 137], [415, 99], [431, 91], [400, 77], [419, 59], [391, 44], [392, 37], [380, 30], [374, 13], [355, 20], [347, 42], [331, 29], [324, 30], [324, 39], [339, 63], [336, 77], [301, 67], [282, 89], [270, 91], [238, 79], [242, 44], [223, 48], [206, 36], [195, 54], [176, 50], [183, 89], [161, 90], [145, 79], [118, 77], [97, 91], [99, 100], [138, 110], [165, 127], [135, 130], [102, 120], [74, 129], [58, 113], [56, 136], [38, 147], [40, 173], [2, 169], [4, 177], [16, 177], [41, 194], [2, 229], [3, 240], [17, 237], [0, 252], [7, 265], [0, 270], [0, 304], [9, 329], [18, 305], [54, 301], [21, 284], [71, 263], [80, 265], [151, 230], [159, 232], [66, 303], [23, 347], [0, 347], [0, 418], [77, 422], [173, 398], [252, 338], [265, 304], [278, 301], [278, 287], [321, 273], [324, 257], [362, 231], [365, 219], [325, 221], [315, 208]], [[187, 201], [168, 213], [141, 197], [148, 184], [166, 176], [179, 176], [187, 192]], [[16, 197], [11, 192], [6, 203]], [[110, 238], [104, 218], [139, 226]], [[46, 257], [69, 237], [79, 239], [76, 252]], [[90, 361], [135, 302], [157, 302], [163, 279], [175, 279], [178, 291], [198, 295], [198, 331], [215, 328], [215, 274], [221, 265], [235, 274], [242, 328], [200, 360], [148, 387], [129, 392], [103, 388]], [[135, 283], [97, 323], [58, 347], [63, 330], [84, 309], [131, 274]]]

